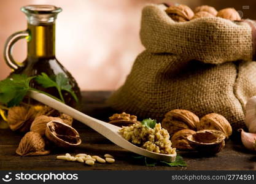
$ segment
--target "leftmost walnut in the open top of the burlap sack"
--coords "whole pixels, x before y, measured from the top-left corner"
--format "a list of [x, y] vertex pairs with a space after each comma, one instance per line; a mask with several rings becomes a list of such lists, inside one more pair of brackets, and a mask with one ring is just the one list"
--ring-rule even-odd
[[188, 21], [191, 20], [194, 16], [194, 12], [190, 7], [179, 4], [177, 6], [170, 6], [165, 12], [171, 17], [174, 21]]

